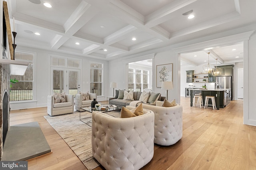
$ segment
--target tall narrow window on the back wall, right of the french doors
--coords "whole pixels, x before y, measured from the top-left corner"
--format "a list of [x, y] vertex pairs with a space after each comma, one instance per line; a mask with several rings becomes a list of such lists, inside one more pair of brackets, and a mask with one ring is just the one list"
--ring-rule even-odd
[[103, 64], [90, 63], [90, 73], [91, 93], [102, 96]]

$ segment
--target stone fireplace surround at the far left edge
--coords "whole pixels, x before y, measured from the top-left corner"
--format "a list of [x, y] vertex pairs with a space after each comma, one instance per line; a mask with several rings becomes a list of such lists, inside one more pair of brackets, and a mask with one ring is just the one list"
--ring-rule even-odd
[[[10, 128], [10, 73], [0, 65], [0, 160], [3, 154], [4, 135]], [[5, 96], [5, 99], [4, 99]], [[6, 98], [7, 97], [7, 98]], [[7, 100], [6, 100], [7, 99]], [[3, 102], [5, 100], [5, 102]], [[4, 106], [3, 106], [4, 104]], [[5, 114], [5, 115], [3, 115]], [[5, 120], [3, 120], [3, 118]], [[5, 136], [6, 137], [6, 136]]]

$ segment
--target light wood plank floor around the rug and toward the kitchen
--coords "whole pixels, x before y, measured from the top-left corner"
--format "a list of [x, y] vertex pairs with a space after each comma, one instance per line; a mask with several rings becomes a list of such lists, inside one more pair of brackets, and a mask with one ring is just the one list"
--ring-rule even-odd
[[[190, 107], [181, 98], [183, 136], [178, 143], [155, 145], [143, 170], [256, 170], [256, 127], [243, 124], [243, 101], [224, 109]], [[84, 170], [86, 167], [44, 119], [46, 107], [11, 111], [10, 125], [38, 121], [52, 153], [28, 161], [29, 170]], [[95, 170], [102, 170], [97, 167]]]

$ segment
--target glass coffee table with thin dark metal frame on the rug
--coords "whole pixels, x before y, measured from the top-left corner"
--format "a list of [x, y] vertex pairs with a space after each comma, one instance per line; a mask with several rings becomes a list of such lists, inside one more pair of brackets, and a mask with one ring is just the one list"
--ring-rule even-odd
[[[102, 105], [102, 107], [106, 107], [106, 106], [110, 106], [110, 105]], [[84, 110], [84, 111], [88, 111], [90, 113], [92, 113], [92, 111], [94, 111], [94, 108], [91, 108], [91, 106], [89, 107], [80, 107], [80, 109]], [[113, 107], [113, 108], [108, 108], [108, 110], [99, 110], [102, 113], [106, 113], [108, 114], [108, 112], [110, 111], [120, 111], [122, 109], [122, 107]], [[86, 125], [92, 127], [90, 124], [92, 123], [92, 115], [81, 115], [81, 112], [79, 112], [79, 119], [80, 121], [82, 121], [83, 123], [85, 123]]]

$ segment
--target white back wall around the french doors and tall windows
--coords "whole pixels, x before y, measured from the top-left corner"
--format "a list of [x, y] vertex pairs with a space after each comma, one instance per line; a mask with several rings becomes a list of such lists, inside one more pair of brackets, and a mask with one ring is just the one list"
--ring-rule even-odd
[[[26, 102], [10, 102], [10, 107], [14, 109], [25, 109], [33, 107], [45, 107], [47, 106], [47, 96], [52, 94], [50, 92], [50, 55], [58, 55], [63, 57], [75, 57], [82, 59], [82, 70], [81, 70], [81, 80], [80, 86], [82, 87], [82, 92], [90, 91], [90, 61], [103, 63], [104, 64], [104, 84], [103, 84], [103, 96], [98, 97], [98, 101], [106, 100], [108, 94], [109, 85], [108, 85], [108, 61], [101, 61], [98, 59], [90, 59], [87, 57], [74, 56], [63, 53], [56, 53], [52, 51], [46, 51], [41, 49], [33, 49], [28, 47], [17, 46], [16, 51], [26, 51], [35, 53], [35, 83], [34, 89], [36, 89], [35, 100], [26, 101]], [[87, 84], [88, 82], [88, 84]], [[105, 95], [106, 94], [106, 95]], [[42, 99], [44, 97], [44, 99]]]

